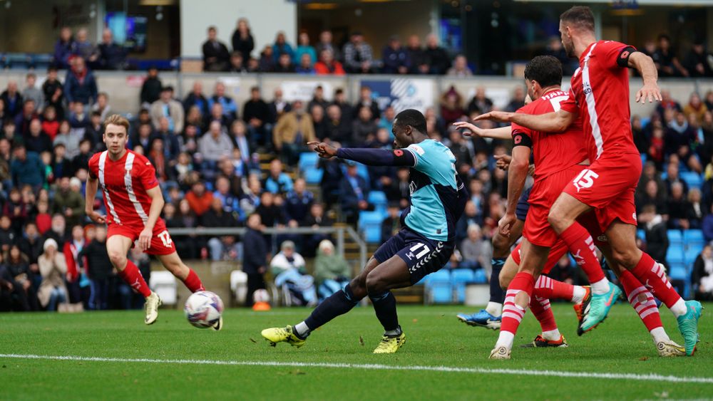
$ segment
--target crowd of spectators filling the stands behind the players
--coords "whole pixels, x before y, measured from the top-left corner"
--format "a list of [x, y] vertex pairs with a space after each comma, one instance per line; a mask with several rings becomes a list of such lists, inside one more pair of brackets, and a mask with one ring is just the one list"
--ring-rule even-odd
[[[111, 33], [106, 33], [104, 48], [111, 49]], [[73, 41], [71, 32], [62, 31], [56, 57], [69, 67], [63, 82], [57, 69], [51, 67], [41, 87], [36, 85], [36, 75], [29, 73], [23, 88], [10, 82], [0, 95], [1, 310], [56, 310], [66, 301], [91, 309], [141, 305], [140, 297], [137, 299], [111, 269], [104, 245], [106, 229], [90, 224], [84, 215], [87, 163], [91, 155], [105, 149], [102, 121], [112, 113], [111, 99], [99, 92], [92, 66], [114, 65], [108, 62], [114, 59], [113, 53], [90, 50], [94, 47], [83, 40], [85, 34], [79, 31]], [[234, 68], [236, 58], [247, 58], [252, 51], [247, 21], [238, 24], [232, 56], [224, 44], [215, 41], [215, 31], [209, 31], [209, 35], [212, 39], [204, 46], [207, 70]], [[384, 63], [370, 63], [371, 50], [359, 34], [342, 49], [332, 46], [328, 31], [322, 33], [316, 48], [309, 46], [304, 33], [299, 41], [300, 46], [293, 50], [284, 42], [284, 35], [278, 35], [275, 46], [263, 50], [258, 66], [275, 68], [299, 61], [307, 67], [303, 61], [319, 53], [343, 59], [349, 72], [376, 71], [372, 68], [379, 65], [394, 68], [391, 73], [434, 73], [433, 68], [438, 67], [433, 58], [425, 56], [421, 64], [392, 65], [386, 63], [386, 51]], [[392, 38], [390, 43], [391, 50], [401, 54], [396, 51], [399, 42]], [[429, 37], [429, 46], [431, 43]], [[699, 63], [688, 63], [688, 59], [680, 63], [667, 56], [666, 43], [667, 38], [662, 36], [660, 48], [655, 50], [660, 52], [655, 60], [661, 71], [674, 66], [670, 75], [710, 73], [705, 58], [690, 58], [703, 63], [701, 70]], [[419, 47], [418, 41], [409, 40], [409, 46]], [[468, 75], [464, 72], [469, 71], [466, 61], [458, 57], [452, 67], [443, 58], [438, 73], [455, 69]], [[662, 86], [665, 89], [665, 83]], [[324, 90], [317, 87], [308, 102], [289, 103], [279, 89], [265, 99], [256, 87], [242, 105], [226, 93], [220, 81], [210, 90], [212, 93], [206, 93], [196, 82], [185, 98], [177, 99], [173, 88], [161, 83], [156, 69], [148, 71], [140, 93], [142, 108], [131, 125], [128, 147], [147, 155], [155, 166], [166, 199], [163, 218], [169, 228], [247, 226], [251, 234], [242, 241], [235, 236], [175, 236], [176, 248], [184, 259], [242, 261], [252, 288], [260, 286], [268, 270], [279, 285], [281, 276], [291, 276], [290, 291], [302, 303], [312, 304], [316, 298], [309, 294], [328, 295], [329, 288], [339, 288], [338, 282], [344, 281], [349, 271], [330, 270], [344, 264], [332, 260], [334, 246], [330, 251], [329, 236], [278, 236], [275, 244], [281, 244], [279, 253], [275, 249], [275, 259], [268, 264], [267, 254], [275, 246], [260, 231], [265, 226], [356, 224], [359, 212], [374, 210], [369, 202], [371, 191], [383, 192], [388, 202], [382, 239], [398, 230], [399, 212], [408, 206], [408, 169], [364, 169], [340, 160], [320, 160], [324, 175], [319, 190], [313, 193], [297, 168], [300, 155], [309, 151], [304, 144], [310, 140], [335, 146], [391, 148], [396, 110], [391, 106], [380, 110], [366, 86], [354, 104], [346, 100], [341, 88], [335, 90], [333, 101], [327, 101]], [[692, 93], [688, 99], [673, 99], [667, 90], [662, 94], [664, 99], [652, 115], [633, 116], [632, 130], [645, 162], [636, 194], [640, 229], [645, 231], [642, 246], [666, 263], [668, 229], [702, 229], [705, 241], [713, 240], [713, 90], [703, 95]], [[517, 88], [506, 108], [517, 110], [524, 97], [524, 88]], [[463, 137], [452, 126], [492, 109], [493, 100], [488, 98], [486, 88], [476, 88], [471, 99], [465, 99], [456, 88], [448, 88], [440, 105], [425, 112], [429, 135], [456, 155], [456, 170], [471, 193], [456, 227], [459, 246], [450, 267], [487, 269], [490, 239], [504, 213], [507, 172], [496, 166], [495, 157], [506, 155], [508, 141]], [[481, 126], [490, 124], [483, 122]], [[265, 161], [269, 168], [263, 171], [260, 164]], [[689, 187], [682, 179], [684, 172], [699, 177], [700, 189]], [[96, 209], [103, 208], [101, 199], [94, 203]], [[265, 249], [266, 257], [255, 258], [255, 253], [242, 251], [247, 241], [250, 245], [245, 245], [246, 249]], [[298, 263], [302, 256], [312, 258], [315, 254], [318, 259], [321, 256], [334, 262], [322, 263], [317, 286], [308, 282], [312, 277], [305, 278], [304, 264]], [[148, 281], [147, 256], [132, 251], [131, 258]], [[553, 276], [575, 283], [584, 280], [566, 257], [553, 270]], [[713, 256], [706, 247], [692, 275], [697, 297], [711, 296], [712, 277]]]

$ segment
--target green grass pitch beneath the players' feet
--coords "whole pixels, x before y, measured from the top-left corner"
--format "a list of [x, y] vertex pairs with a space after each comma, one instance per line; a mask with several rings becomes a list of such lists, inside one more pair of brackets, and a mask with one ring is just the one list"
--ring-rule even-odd
[[[658, 373], [713, 377], [713, 305], [704, 311], [702, 342], [693, 358], [659, 358], [644, 326], [628, 305], [612, 308], [592, 333], [576, 335], [576, 318], [565, 304], [553, 305], [569, 348], [520, 348], [539, 333], [528, 313], [515, 338], [513, 360], [488, 360], [498, 333], [456, 320], [462, 306], [401, 306], [406, 345], [395, 355], [373, 355], [381, 326], [371, 307], [359, 307], [312, 333], [303, 348], [270, 348], [262, 328], [299, 322], [309, 310], [255, 313], [225, 311], [220, 332], [190, 326], [182, 311], [162, 309], [153, 326], [142, 311], [62, 315], [0, 315], [0, 353], [103, 358], [274, 361], [511, 368], [590, 373]], [[706, 313], [708, 312], [708, 313]], [[683, 343], [672, 314], [662, 318], [672, 339]], [[361, 344], [360, 337], [364, 340]], [[29, 360], [0, 358], [2, 399], [652, 399], [704, 398], [713, 383], [679, 383], [548, 377], [492, 373], [366, 370], [294, 366], [194, 365], [174, 363]]]

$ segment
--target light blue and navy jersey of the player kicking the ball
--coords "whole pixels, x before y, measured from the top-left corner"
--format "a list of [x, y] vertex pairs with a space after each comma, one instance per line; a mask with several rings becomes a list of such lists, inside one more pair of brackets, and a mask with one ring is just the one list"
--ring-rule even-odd
[[405, 150], [416, 160], [411, 167], [411, 208], [406, 212], [406, 226], [428, 239], [453, 241], [464, 205], [458, 197], [463, 183], [456, 174], [456, 157], [436, 140], [424, 140]]

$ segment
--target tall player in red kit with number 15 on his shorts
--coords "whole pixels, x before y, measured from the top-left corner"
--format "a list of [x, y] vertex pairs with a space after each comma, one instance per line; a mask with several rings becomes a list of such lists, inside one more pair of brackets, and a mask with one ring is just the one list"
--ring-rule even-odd
[[[583, 251], [583, 264], [598, 265], [593, 253], [587, 252], [592, 242], [590, 234], [576, 222], [581, 214], [594, 209], [614, 260], [647, 284], [651, 293], [670, 308], [684, 337], [686, 353], [693, 355], [701, 304], [684, 301], [660, 265], [635, 244], [634, 192], [641, 161], [631, 132], [627, 68], [636, 68], [644, 81], [636, 101], [652, 102], [661, 100], [654, 63], [632, 46], [597, 41], [594, 15], [586, 6], [575, 6], [560, 16], [560, 33], [565, 51], [580, 60], [580, 68], [572, 77], [572, 99], [563, 102], [554, 113], [491, 112], [476, 120], [498, 120], [544, 132], [563, 132], [580, 120], [591, 164], [565, 187], [550, 209], [548, 222], [570, 251], [575, 254], [577, 250]], [[612, 303], [607, 294], [593, 295], [580, 328], [588, 330], [596, 326]]]

